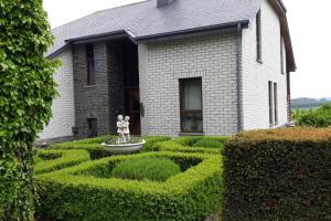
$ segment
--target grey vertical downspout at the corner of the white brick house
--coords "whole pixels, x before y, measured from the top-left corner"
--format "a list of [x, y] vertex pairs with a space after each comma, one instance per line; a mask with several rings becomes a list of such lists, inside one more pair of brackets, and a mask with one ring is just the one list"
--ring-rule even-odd
[[244, 106], [243, 106], [243, 28], [237, 23], [237, 115], [238, 131], [244, 129]]

